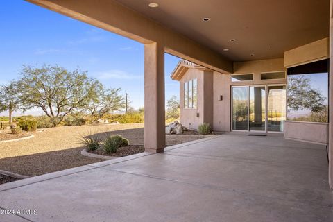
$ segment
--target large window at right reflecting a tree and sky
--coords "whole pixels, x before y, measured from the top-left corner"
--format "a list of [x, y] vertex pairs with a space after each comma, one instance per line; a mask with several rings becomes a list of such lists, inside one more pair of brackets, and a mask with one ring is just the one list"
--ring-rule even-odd
[[328, 122], [328, 63], [319, 60], [287, 70], [288, 120]]

